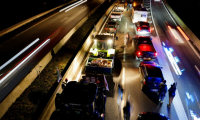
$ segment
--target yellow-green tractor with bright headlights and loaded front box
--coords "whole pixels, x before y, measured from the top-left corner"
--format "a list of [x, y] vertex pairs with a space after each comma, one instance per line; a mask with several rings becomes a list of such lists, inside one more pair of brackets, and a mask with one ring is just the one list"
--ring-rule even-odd
[[87, 73], [112, 73], [115, 56], [115, 34], [96, 35], [85, 69]]

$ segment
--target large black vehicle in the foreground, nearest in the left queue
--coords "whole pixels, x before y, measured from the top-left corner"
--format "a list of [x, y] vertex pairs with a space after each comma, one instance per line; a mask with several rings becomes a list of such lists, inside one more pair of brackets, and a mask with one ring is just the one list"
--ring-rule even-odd
[[109, 90], [105, 76], [89, 74], [80, 82], [63, 83], [62, 93], [55, 98], [56, 111], [51, 118], [57, 120], [104, 120], [106, 93]]

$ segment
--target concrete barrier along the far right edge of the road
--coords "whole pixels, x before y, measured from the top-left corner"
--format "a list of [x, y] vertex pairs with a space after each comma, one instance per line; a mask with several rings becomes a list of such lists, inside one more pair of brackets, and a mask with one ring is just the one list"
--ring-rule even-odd
[[196, 37], [196, 35], [187, 27], [187, 25], [179, 18], [179, 16], [173, 11], [173, 9], [169, 6], [166, 0], [163, 0], [164, 4], [166, 5], [167, 9], [176, 20], [178, 25], [183, 29], [183, 31], [187, 34], [193, 44], [200, 50], [200, 40]]

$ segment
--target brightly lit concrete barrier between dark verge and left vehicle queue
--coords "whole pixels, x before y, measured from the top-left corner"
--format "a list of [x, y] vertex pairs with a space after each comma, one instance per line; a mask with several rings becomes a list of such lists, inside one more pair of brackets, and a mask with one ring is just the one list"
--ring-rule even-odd
[[[112, 4], [109, 9], [106, 11], [106, 13], [101, 17], [99, 22], [95, 25], [96, 31], [99, 31], [102, 24], [106, 20], [107, 17], [109, 17], [110, 11], [115, 7], [115, 3]], [[65, 80], [65, 78], [68, 78], [68, 80], [76, 80], [78, 74], [80, 73], [81, 69], [85, 66], [85, 60], [88, 55], [88, 51], [93, 43], [92, 36], [96, 35], [98, 32], [96, 32], [94, 29], [91, 31], [90, 35], [76, 54], [75, 58], [73, 59], [72, 63], [70, 64], [69, 68], [67, 69], [66, 73], [64, 74], [62, 81]], [[57, 93], [62, 92], [61, 84], [62, 81], [59, 83], [58, 87], [56, 88], [55, 92], [51, 96], [49, 102], [47, 103], [45, 109], [43, 110], [39, 120], [49, 120], [51, 117], [51, 114], [55, 110], [55, 97]]]

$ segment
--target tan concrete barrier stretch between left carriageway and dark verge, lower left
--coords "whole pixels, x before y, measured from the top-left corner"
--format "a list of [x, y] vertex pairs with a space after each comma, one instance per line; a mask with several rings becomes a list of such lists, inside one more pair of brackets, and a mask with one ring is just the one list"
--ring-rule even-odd
[[23, 91], [36, 79], [40, 72], [51, 61], [52, 56], [49, 52], [31, 72], [15, 87], [14, 90], [0, 103], [0, 118], [6, 113], [9, 107], [15, 102], [15, 100], [23, 93]]

